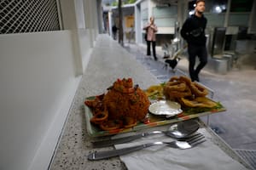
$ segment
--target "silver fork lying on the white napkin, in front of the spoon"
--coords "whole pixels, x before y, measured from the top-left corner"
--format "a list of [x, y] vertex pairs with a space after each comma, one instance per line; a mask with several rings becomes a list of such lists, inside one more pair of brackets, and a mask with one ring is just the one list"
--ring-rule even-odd
[[177, 148], [180, 150], [186, 150], [192, 147], [195, 147], [197, 144], [201, 144], [206, 141], [204, 139], [205, 137], [203, 134], [199, 133], [199, 135], [193, 136], [189, 139], [185, 139], [183, 141], [172, 141], [172, 142], [153, 142], [153, 143], [148, 143], [148, 144], [139, 144], [131, 147], [126, 147], [118, 150], [105, 150], [105, 151], [95, 151], [92, 152], [88, 155], [88, 160], [90, 161], [97, 161], [97, 160], [102, 160], [114, 156], [123, 156], [125, 154], [129, 154], [131, 152], [137, 151], [137, 150], [143, 150], [144, 148], [148, 148], [154, 145], [160, 145], [160, 144], [166, 144], [166, 146], [172, 147], [172, 148]]

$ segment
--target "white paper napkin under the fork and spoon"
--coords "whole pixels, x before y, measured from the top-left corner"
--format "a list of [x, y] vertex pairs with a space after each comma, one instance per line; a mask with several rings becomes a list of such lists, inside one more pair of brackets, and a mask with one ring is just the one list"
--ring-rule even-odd
[[[211, 141], [211, 135], [206, 129], [200, 128], [207, 139], [206, 142], [188, 150], [173, 149], [163, 145], [149, 147], [131, 154], [120, 156], [129, 170], [241, 170], [247, 169], [238, 161], [232, 159]], [[128, 144], [116, 144], [116, 149], [145, 144], [154, 141], [172, 141], [163, 134], [137, 139]]]

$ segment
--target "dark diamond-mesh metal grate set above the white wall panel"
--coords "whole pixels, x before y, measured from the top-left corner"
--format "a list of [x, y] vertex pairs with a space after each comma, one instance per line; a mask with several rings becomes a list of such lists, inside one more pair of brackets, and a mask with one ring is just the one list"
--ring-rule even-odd
[[57, 30], [56, 0], [0, 0], [0, 34]]

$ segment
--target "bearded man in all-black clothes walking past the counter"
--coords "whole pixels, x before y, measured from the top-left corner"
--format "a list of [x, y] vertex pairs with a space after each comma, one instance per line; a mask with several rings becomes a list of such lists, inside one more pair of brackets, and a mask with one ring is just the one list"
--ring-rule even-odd
[[[188, 42], [189, 76], [191, 80], [199, 82], [199, 73], [207, 65], [207, 37], [205, 29], [207, 19], [204, 17], [205, 1], [197, 0], [195, 14], [192, 14], [185, 22], [181, 30], [181, 36]], [[195, 58], [198, 56], [200, 63], [195, 68]]]

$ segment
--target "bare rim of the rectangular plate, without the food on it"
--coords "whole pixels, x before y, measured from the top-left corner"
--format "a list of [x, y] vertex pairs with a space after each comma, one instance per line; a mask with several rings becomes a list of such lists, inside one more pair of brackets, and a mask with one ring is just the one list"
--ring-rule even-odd
[[[89, 97], [87, 99], [93, 99], [94, 97]], [[212, 100], [213, 101], [213, 100]], [[215, 101], [213, 101], [215, 102]], [[148, 127], [157, 127], [162, 126], [166, 124], [171, 124], [173, 122], [180, 122], [189, 120], [195, 117], [199, 116], [207, 116], [210, 114], [218, 113], [221, 111], [226, 111], [226, 109], [222, 106], [219, 109], [212, 109], [212, 111], [205, 111], [201, 113], [186, 113], [183, 111], [182, 113], [178, 114], [177, 116], [173, 116], [170, 118], [166, 118], [165, 116], [154, 116], [150, 113], [145, 118], [144, 122], [137, 122], [137, 125], [135, 127], [131, 128], [122, 128], [122, 129], [115, 129], [111, 131], [103, 131], [99, 127], [96, 127], [95, 125], [90, 123], [90, 118], [92, 117], [92, 112], [90, 111], [90, 108], [87, 105], [84, 105], [84, 115], [85, 115], [85, 121], [86, 121], [86, 128], [87, 132], [91, 137], [100, 137], [100, 136], [108, 136], [113, 135], [117, 133], [129, 133], [129, 132], [135, 132], [137, 130], [148, 128]]]

